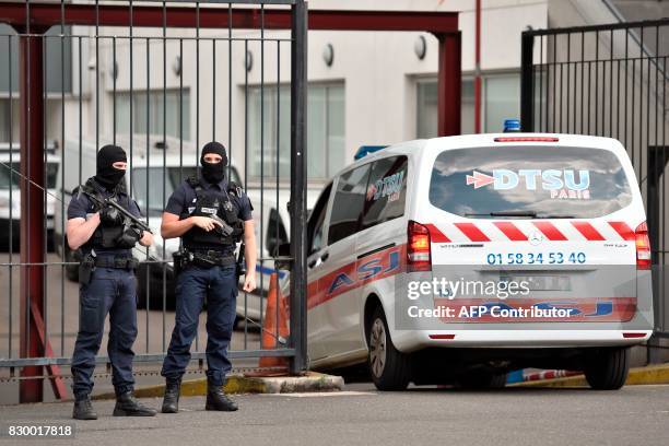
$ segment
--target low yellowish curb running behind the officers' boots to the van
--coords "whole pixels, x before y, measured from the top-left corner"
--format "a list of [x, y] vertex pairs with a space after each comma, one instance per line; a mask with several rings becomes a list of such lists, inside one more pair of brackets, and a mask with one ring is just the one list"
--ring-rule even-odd
[[[303, 376], [250, 377], [230, 375], [225, 383], [226, 394], [294, 394], [308, 391], [340, 391], [344, 380], [341, 376], [307, 372]], [[162, 398], [165, 385], [134, 389], [138, 398]], [[181, 397], [207, 395], [207, 378], [187, 379], [181, 383]], [[114, 392], [94, 396], [94, 400], [115, 399]]]

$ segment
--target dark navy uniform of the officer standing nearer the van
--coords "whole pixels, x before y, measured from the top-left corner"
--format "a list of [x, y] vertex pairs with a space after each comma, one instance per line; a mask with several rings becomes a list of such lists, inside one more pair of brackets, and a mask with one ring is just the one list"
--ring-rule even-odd
[[[190, 361], [190, 345], [204, 300], [207, 377], [212, 387], [225, 384], [225, 375], [232, 368], [227, 347], [236, 316], [238, 279], [234, 251], [244, 222], [251, 220], [251, 210], [246, 193], [238, 185], [228, 184], [226, 178], [216, 184], [204, 178], [189, 178], [169, 197], [165, 212], [179, 215], [179, 220], [215, 214], [233, 228], [233, 233], [223, 236], [218, 230], [206, 232], [193, 226], [183, 235], [184, 248], [191, 261], [178, 274], [175, 290], [175, 327], [161, 372], [168, 385], [180, 383]], [[178, 388], [176, 391], [178, 398]]]

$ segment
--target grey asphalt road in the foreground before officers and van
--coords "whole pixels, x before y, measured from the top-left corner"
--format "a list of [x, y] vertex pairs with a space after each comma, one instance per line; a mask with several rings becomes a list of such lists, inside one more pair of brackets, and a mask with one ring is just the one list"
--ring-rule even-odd
[[[669, 386], [619, 391], [515, 388], [500, 391], [413, 389], [378, 394], [369, 384], [340, 394], [236, 397], [235, 413], [203, 411], [202, 397], [181, 412], [77, 422], [75, 445], [666, 445]], [[157, 407], [159, 399], [144, 403]], [[70, 422], [71, 403], [0, 407], [7, 422]], [[16, 441], [17, 445], [46, 441]], [[0, 441], [2, 443], [2, 441]], [[61, 442], [50, 441], [49, 444]]]

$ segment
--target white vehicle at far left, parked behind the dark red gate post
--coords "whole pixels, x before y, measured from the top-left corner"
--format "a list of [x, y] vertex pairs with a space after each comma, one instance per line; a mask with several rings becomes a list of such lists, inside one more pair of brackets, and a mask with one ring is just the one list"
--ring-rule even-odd
[[[10, 151], [9, 143], [0, 143], [0, 246], [3, 249], [12, 244], [13, 250], [19, 249], [21, 233], [21, 154], [19, 144], [13, 144]], [[56, 155], [56, 144], [49, 143], [46, 148], [46, 230], [47, 244], [54, 243], [54, 212], [56, 207], [56, 177], [60, 166], [60, 156]], [[13, 169], [14, 172], [11, 172]], [[44, 193], [44, 192], [43, 192]], [[11, 231], [10, 231], [11, 230]], [[10, 240], [11, 233], [11, 240]]]

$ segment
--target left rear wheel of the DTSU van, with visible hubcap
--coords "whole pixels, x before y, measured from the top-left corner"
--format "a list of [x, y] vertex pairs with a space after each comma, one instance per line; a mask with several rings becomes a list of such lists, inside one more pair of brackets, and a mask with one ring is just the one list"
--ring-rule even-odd
[[404, 390], [409, 385], [409, 356], [398, 351], [390, 339], [388, 322], [380, 306], [374, 309], [367, 333], [367, 364], [379, 390]]

